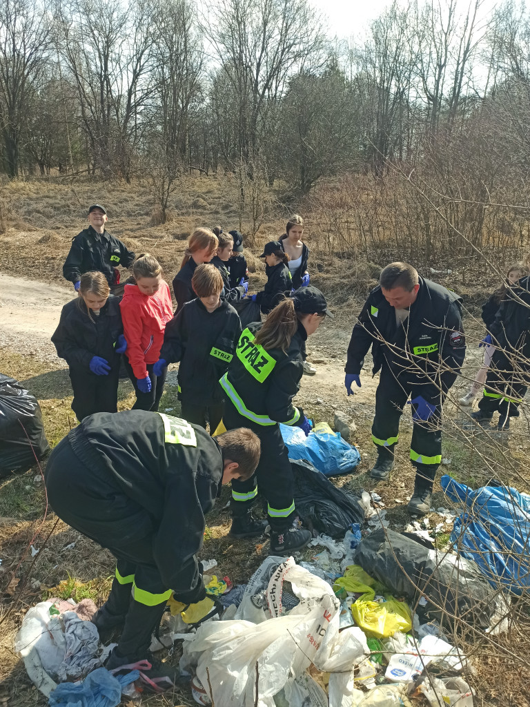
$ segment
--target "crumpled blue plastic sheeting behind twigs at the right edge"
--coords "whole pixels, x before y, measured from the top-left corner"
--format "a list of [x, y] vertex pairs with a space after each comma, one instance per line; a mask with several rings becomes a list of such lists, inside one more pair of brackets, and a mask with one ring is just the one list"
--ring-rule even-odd
[[530, 496], [507, 486], [473, 491], [452, 477], [440, 484], [446, 495], [467, 510], [454, 521], [451, 542], [459, 554], [476, 562], [490, 584], [514, 595], [530, 589]]

